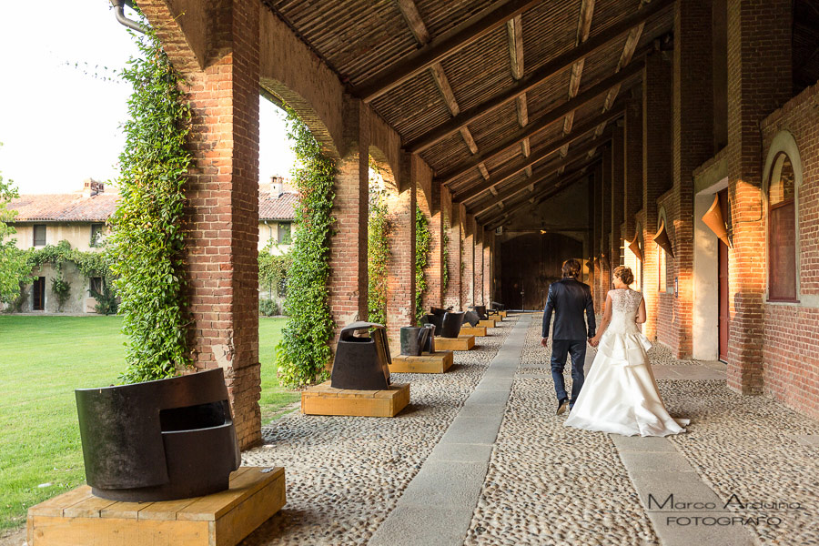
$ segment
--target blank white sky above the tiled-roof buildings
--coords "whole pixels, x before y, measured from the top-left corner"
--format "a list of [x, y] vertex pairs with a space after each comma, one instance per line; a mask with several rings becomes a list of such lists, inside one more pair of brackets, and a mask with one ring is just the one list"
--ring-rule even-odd
[[[69, 4], [0, 0], [0, 175], [23, 194], [70, 193], [117, 174], [130, 88], [103, 78], [136, 47], [108, 0]], [[261, 99], [261, 181], [288, 176], [294, 162], [283, 119]]]

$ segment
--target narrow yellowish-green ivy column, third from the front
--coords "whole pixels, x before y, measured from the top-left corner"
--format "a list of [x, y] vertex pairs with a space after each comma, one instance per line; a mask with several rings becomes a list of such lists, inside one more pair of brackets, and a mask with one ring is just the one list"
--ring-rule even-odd
[[386, 192], [369, 192], [369, 223], [367, 231], [367, 308], [369, 321], [387, 324], [387, 266], [389, 260], [389, 210]]

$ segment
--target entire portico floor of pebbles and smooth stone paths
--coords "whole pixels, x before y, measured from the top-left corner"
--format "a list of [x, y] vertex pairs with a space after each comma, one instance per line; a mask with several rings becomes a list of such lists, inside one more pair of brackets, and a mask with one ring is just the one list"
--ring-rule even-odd
[[288, 505], [245, 544], [819, 541], [819, 422], [733, 393], [718, 363], [656, 348], [687, 434], [565, 428], [539, 323], [502, 323], [448, 374], [396, 377], [412, 400], [393, 420], [292, 414], [265, 427], [245, 462], [285, 466]]

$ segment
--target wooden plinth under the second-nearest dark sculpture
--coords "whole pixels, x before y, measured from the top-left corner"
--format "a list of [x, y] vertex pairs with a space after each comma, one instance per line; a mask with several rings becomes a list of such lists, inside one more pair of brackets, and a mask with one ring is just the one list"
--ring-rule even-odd
[[409, 403], [410, 383], [395, 383], [387, 390], [351, 390], [333, 389], [325, 381], [301, 392], [305, 415], [395, 417]]

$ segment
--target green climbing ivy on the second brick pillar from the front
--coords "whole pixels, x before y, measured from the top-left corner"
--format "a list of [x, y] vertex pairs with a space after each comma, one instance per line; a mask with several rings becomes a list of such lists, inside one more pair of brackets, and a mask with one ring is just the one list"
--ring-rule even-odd
[[288, 136], [300, 167], [291, 173], [298, 191], [296, 232], [287, 271], [288, 322], [276, 347], [276, 365], [279, 383], [298, 388], [327, 379], [332, 356], [334, 324], [327, 281], [336, 165], [297, 114], [289, 107], [287, 112]]

